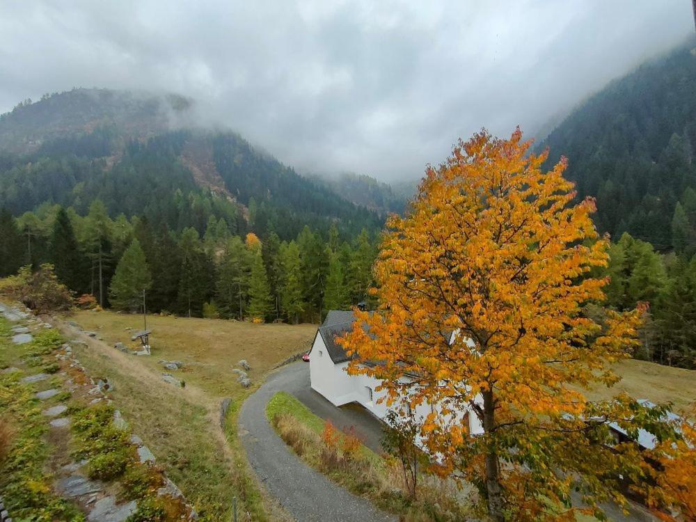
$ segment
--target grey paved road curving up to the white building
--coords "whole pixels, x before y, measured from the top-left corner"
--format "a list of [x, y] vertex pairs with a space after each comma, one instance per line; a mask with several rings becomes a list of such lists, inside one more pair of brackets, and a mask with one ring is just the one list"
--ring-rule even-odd
[[[379, 511], [367, 500], [349, 493], [304, 464], [269, 425], [266, 404], [276, 392], [310, 394], [308, 366], [294, 363], [280, 368], [242, 405], [239, 438], [251, 467], [269, 493], [297, 521], [396, 522], [395, 516]], [[317, 400], [317, 404], [308, 406], [315, 410], [320, 407], [318, 404]], [[363, 417], [362, 413], [335, 410], [338, 416], [345, 415], [371, 436], [374, 436], [374, 427], [379, 429], [377, 420]]]

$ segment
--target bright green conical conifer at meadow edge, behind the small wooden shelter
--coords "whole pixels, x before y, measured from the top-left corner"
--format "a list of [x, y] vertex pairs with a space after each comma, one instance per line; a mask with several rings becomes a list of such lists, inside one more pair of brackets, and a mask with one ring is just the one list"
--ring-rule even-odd
[[123, 253], [109, 287], [111, 306], [135, 312], [143, 303], [143, 291], [150, 290], [152, 276], [145, 253], [137, 239]]

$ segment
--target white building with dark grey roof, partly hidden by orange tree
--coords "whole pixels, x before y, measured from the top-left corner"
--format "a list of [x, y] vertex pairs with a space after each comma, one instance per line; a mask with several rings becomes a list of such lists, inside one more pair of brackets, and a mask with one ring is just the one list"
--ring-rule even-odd
[[[380, 419], [384, 419], [388, 408], [383, 402], [378, 402], [386, 391], [377, 391], [380, 384], [378, 379], [367, 375], [349, 375], [346, 367], [350, 357], [343, 347], [338, 345], [336, 338], [352, 329], [355, 316], [350, 311], [331, 310], [317, 335], [310, 350], [310, 383], [312, 389], [326, 397], [334, 406], [342, 406], [349, 402], [361, 404]], [[416, 416], [425, 418], [437, 411], [436, 404], [420, 404], [416, 408]], [[461, 412], [461, 417], [468, 418], [469, 433], [483, 433], [483, 427], [478, 417], [472, 411]]]

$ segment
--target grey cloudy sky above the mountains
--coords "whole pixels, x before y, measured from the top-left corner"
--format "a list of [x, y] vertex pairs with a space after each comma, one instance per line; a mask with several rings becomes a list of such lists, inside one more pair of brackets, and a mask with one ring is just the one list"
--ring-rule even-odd
[[168, 90], [303, 171], [409, 179], [481, 127], [548, 129], [693, 32], [688, 0], [0, 0], [0, 112]]

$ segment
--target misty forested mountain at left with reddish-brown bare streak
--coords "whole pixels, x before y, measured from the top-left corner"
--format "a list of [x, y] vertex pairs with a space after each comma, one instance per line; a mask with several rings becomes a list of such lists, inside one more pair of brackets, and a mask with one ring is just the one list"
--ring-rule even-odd
[[[232, 132], [187, 127], [191, 100], [76, 89], [19, 104], [0, 118], [0, 207], [15, 215], [44, 203], [86, 214], [143, 215], [205, 232], [209, 216], [232, 232], [296, 237], [304, 225], [347, 235], [379, 216], [340, 198]], [[248, 210], [247, 210], [248, 207]]]

